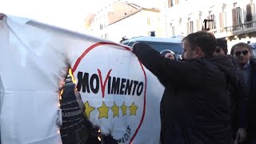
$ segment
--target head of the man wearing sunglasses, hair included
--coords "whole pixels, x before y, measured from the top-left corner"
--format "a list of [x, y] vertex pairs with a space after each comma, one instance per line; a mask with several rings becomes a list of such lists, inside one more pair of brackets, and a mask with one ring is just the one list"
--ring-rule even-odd
[[230, 54], [239, 66], [244, 66], [250, 60], [251, 48], [248, 44], [239, 42], [232, 46]]

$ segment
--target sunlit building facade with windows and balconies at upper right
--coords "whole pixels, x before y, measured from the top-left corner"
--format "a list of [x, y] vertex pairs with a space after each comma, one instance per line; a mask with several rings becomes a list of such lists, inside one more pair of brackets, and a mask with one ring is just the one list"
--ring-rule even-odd
[[166, 0], [166, 37], [208, 31], [237, 42], [256, 42], [255, 0]]

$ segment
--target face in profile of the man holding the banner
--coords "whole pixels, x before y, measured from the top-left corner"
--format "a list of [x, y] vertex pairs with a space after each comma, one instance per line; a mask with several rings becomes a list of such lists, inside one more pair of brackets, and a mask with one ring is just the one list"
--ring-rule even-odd
[[195, 52], [194, 50], [191, 48], [190, 46], [190, 42], [187, 42], [186, 40], [184, 40], [184, 42], [182, 43], [182, 59], [192, 59], [195, 58]]

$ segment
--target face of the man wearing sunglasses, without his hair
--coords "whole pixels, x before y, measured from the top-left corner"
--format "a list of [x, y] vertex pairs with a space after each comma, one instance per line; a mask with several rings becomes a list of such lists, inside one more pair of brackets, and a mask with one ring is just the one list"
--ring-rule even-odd
[[236, 46], [234, 48], [234, 58], [238, 64], [246, 64], [250, 60], [250, 50], [244, 46]]

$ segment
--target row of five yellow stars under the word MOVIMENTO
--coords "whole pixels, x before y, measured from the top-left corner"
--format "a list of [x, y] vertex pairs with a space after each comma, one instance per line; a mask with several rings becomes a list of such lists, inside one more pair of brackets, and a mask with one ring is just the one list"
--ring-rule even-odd
[[[90, 106], [88, 101], [85, 103], [85, 106], [86, 106], [86, 110], [85, 110], [86, 115], [88, 118], [90, 118], [90, 112], [95, 110], [95, 108]], [[126, 103], [122, 102], [122, 106], [120, 106], [120, 108], [122, 110], [122, 116], [126, 115], [127, 107], [128, 106], [126, 106]], [[105, 102], [102, 102], [102, 106], [98, 107], [98, 113], [99, 113], [98, 118], [108, 118], [109, 110], [110, 110], [110, 107], [106, 106]], [[114, 105], [111, 107], [111, 110], [113, 111], [113, 118], [119, 117], [119, 106], [116, 104], [116, 102], [114, 102]], [[129, 110], [130, 110], [130, 115], [136, 115], [138, 106], [135, 106], [135, 103], [133, 102], [133, 104], [131, 106], [129, 106]]]

